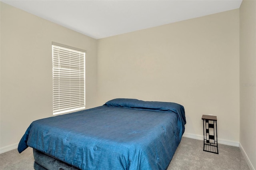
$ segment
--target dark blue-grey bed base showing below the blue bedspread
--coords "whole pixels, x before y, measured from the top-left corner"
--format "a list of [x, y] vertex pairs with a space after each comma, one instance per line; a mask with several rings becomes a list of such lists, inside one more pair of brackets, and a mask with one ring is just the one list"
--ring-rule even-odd
[[66, 164], [52, 156], [48, 156], [33, 148], [35, 170], [79, 170], [74, 166]]

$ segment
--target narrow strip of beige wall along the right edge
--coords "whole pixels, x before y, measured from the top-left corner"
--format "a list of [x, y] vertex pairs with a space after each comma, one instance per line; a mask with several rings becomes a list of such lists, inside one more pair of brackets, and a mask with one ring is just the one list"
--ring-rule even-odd
[[256, 168], [256, 1], [240, 6], [240, 144]]

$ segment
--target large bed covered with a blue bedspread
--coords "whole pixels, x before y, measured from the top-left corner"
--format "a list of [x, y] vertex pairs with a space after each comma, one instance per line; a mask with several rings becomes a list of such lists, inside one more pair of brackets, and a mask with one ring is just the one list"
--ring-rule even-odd
[[113, 99], [32, 122], [18, 152], [33, 148], [36, 170], [165, 170], [185, 124], [177, 103]]

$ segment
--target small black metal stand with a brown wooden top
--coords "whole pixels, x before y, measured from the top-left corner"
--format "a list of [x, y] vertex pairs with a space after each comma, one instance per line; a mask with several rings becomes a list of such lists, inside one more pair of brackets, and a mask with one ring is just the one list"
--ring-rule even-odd
[[219, 154], [217, 138], [217, 117], [203, 115], [204, 151]]

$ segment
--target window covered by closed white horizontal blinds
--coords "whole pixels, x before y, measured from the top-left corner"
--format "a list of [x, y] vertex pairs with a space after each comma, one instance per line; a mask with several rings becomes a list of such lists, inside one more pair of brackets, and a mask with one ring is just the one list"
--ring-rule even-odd
[[52, 43], [54, 115], [85, 109], [85, 53]]

